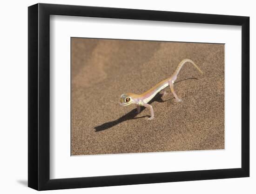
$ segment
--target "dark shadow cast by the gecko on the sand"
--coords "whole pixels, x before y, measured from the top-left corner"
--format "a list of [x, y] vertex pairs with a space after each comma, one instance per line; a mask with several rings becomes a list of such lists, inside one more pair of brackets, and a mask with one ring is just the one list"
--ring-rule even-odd
[[[184, 79], [184, 80], [190, 80], [190, 79], [195, 79], [197, 80], [197, 78], [187, 78], [187, 79]], [[184, 80], [179, 80], [179, 81], [176, 81], [174, 84], [178, 83], [178, 82], [181, 82], [181, 81], [184, 81]], [[149, 101], [148, 104], [151, 104], [152, 102], [154, 101], [157, 101], [157, 102], [166, 102], [166, 101], [169, 101], [169, 100], [172, 100], [173, 98], [175, 97], [172, 97], [171, 99], [169, 100], [162, 100], [162, 95], [161, 94], [157, 94], [152, 100]], [[146, 107], [141, 107], [141, 112], [145, 109]], [[95, 129], [95, 132], [99, 132], [99, 131], [103, 131], [103, 130], [106, 130], [108, 128], [111, 128], [111, 127], [114, 127], [115, 125], [118, 125], [119, 123], [123, 122], [123, 121], [126, 121], [126, 120], [135, 120], [135, 119], [141, 119], [141, 118], [144, 118], [144, 117], [150, 117], [149, 115], [145, 115], [145, 116], [140, 116], [140, 117], [136, 117], [139, 113], [137, 112], [137, 108], [133, 109], [132, 111], [128, 112], [127, 114], [121, 116], [119, 119], [117, 120], [113, 120], [113, 121], [109, 121], [109, 122], [106, 122], [106, 123], [103, 123], [102, 125], [99, 125], [97, 127], [94, 127]]]

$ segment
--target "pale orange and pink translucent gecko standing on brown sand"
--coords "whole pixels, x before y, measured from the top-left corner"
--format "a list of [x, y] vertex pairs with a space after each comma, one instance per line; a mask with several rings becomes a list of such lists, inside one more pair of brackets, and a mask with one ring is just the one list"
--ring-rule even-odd
[[[142, 93], [142, 94], [133, 94], [133, 93], [127, 93], [127, 94], [121, 94], [120, 97], [120, 102], [119, 105], [121, 107], [125, 107], [131, 104], [135, 104], [137, 106], [137, 112], [140, 113], [141, 112], [141, 106], [149, 108], [150, 110], [150, 117], [148, 118], [148, 120], [152, 120], [154, 119], [154, 110], [153, 107], [148, 104], [148, 102], [150, 100], [152, 100], [156, 94], [161, 93], [162, 94], [162, 90], [166, 87], [170, 87], [171, 88], [171, 92], [175, 97], [175, 100], [177, 102], [180, 102], [181, 99], [177, 96], [177, 94], [174, 91], [174, 82], [177, 79], [177, 75], [179, 74], [182, 66], [186, 63], [186, 62], [190, 62], [192, 63], [196, 69], [201, 73], [201, 69], [199, 67], [197, 67], [197, 65], [195, 65], [195, 63], [193, 62], [193, 60], [190, 59], [184, 59], [182, 60], [178, 67], [176, 68], [175, 72], [172, 74], [171, 77], [162, 80], [161, 82], [159, 82], [158, 84], [156, 84], [154, 87], [150, 88], [148, 91]], [[166, 92], [163, 93], [163, 95], [166, 94]]]

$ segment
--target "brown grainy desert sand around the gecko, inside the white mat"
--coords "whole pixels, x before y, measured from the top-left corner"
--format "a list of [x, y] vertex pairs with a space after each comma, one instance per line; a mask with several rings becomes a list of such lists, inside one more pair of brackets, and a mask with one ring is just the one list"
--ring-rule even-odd
[[[189, 58], [150, 112], [120, 107], [121, 94], [141, 94]], [[71, 40], [71, 154], [224, 149], [224, 45], [136, 40]]]

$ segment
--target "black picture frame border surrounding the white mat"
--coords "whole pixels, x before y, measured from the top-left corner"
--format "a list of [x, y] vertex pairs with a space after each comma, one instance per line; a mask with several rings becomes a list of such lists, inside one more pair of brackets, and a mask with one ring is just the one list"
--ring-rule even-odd
[[[50, 15], [242, 26], [242, 167], [50, 179]], [[52, 190], [249, 176], [249, 17], [36, 4], [28, 7], [28, 187]]]

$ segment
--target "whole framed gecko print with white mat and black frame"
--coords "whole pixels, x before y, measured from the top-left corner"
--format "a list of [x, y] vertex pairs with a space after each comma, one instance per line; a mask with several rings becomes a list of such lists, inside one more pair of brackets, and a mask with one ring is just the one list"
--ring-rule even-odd
[[249, 17], [28, 7], [28, 187], [249, 176]]

